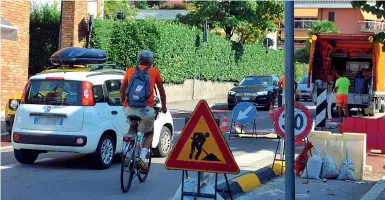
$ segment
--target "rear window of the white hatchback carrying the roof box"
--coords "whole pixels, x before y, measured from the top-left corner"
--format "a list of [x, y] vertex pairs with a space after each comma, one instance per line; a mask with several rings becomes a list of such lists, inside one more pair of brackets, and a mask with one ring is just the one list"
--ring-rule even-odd
[[27, 104], [81, 105], [80, 81], [32, 80], [27, 91]]

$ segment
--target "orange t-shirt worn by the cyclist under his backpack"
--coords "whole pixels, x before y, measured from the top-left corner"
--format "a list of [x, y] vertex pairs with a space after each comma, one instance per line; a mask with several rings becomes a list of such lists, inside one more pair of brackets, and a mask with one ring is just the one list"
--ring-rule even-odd
[[[146, 66], [141, 65], [139, 68], [141, 70], [144, 70], [146, 68]], [[134, 73], [135, 73], [135, 70], [136, 70], [136, 67], [127, 69], [126, 75], [124, 76], [124, 79], [123, 79], [123, 82], [122, 82], [123, 85], [127, 85], [128, 86], [128, 84], [130, 83], [130, 79], [131, 79], [132, 75], [134, 75]], [[154, 88], [155, 88], [155, 84], [162, 83], [163, 80], [162, 80], [162, 77], [160, 76], [160, 73], [159, 73], [158, 69], [156, 69], [156, 68], [152, 68], [151, 67], [148, 70], [148, 76], [150, 77], [150, 97], [148, 99], [148, 104], [147, 105], [149, 107], [153, 108], [154, 107]], [[124, 100], [123, 106], [124, 107], [128, 106], [127, 98]]]

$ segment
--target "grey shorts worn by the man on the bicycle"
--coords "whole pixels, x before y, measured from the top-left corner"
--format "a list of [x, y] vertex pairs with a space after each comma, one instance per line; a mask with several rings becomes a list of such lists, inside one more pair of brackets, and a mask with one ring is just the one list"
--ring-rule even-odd
[[152, 131], [155, 121], [155, 110], [153, 108], [149, 106], [146, 108], [123, 107], [123, 112], [126, 117], [136, 115], [142, 119], [138, 126], [138, 132], [148, 133]]

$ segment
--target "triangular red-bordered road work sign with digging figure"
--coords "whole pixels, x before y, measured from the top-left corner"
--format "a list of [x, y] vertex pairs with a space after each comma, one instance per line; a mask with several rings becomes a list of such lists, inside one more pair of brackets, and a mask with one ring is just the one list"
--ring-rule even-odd
[[167, 169], [238, 174], [235, 162], [206, 101], [201, 100], [166, 160]]

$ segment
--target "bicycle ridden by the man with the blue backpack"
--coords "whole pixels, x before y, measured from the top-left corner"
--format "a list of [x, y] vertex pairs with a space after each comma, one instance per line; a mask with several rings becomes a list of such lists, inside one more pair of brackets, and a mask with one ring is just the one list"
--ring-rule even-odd
[[[158, 109], [155, 109], [155, 119], [158, 116]], [[149, 149], [145, 163], [147, 165], [146, 173], [141, 173], [141, 166], [138, 164], [140, 156], [140, 150], [142, 149], [142, 142], [144, 139], [144, 133], [138, 132], [138, 125], [141, 118], [138, 116], [128, 116], [128, 122], [130, 123], [130, 130], [123, 136], [123, 146], [121, 152], [121, 168], [120, 168], [120, 188], [123, 193], [129, 191], [132, 180], [135, 176], [138, 176], [138, 180], [143, 183], [146, 181], [151, 166], [151, 148]], [[128, 170], [128, 171], [126, 171]], [[125, 175], [129, 174], [129, 179], [125, 180]]]

